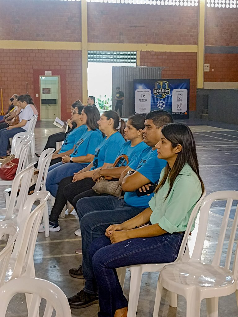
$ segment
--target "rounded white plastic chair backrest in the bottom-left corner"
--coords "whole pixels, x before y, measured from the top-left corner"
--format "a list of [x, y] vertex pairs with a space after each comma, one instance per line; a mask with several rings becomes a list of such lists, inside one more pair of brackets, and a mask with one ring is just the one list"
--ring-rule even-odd
[[46, 300], [44, 316], [52, 316], [53, 310], [56, 312], [55, 317], [71, 316], [67, 297], [54, 283], [36, 277], [18, 277], [5, 283], [0, 288], [0, 317], [5, 317], [11, 298], [18, 293], [33, 294], [26, 316], [39, 316], [42, 298]]

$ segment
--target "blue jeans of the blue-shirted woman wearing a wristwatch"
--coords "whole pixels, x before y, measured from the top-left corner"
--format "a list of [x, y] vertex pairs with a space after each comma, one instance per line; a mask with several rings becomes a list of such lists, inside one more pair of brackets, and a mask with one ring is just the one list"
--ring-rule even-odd
[[56, 197], [56, 193], [58, 190], [58, 185], [61, 179], [74, 176], [74, 173], [82, 170], [87, 164], [81, 163], [56, 163], [51, 165], [48, 170], [47, 178], [46, 178], [46, 190], [51, 193], [52, 196]]

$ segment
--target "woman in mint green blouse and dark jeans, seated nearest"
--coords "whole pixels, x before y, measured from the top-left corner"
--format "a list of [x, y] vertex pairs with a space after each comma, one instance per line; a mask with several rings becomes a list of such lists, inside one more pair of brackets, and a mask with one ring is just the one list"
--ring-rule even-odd
[[[176, 260], [190, 214], [204, 191], [195, 141], [188, 126], [164, 126], [156, 148], [158, 158], [165, 159], [167, 165], [150, 207], [124, 223], [110, 225], [105, 236], [90, 246], [99, 289], [99, 317], [127, 315], [128, 302], [115, 268]], [[149, 226], [138, 228], [148, 222]]]

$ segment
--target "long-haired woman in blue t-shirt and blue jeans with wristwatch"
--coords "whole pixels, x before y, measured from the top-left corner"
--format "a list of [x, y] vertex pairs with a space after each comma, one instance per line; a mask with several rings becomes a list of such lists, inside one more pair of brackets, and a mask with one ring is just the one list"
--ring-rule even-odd
[[73, 176], [74, 173], [90, 164], [94, 158], [96, 147], [101, 143], [103, 136], [98, 129], [100, 113], [94, 106], [86, 106], [81, 112], [82, 124], [87, 129], [74, 146], [74, 152], [62, 157], [62, 162], [49, 167], [46, 179], [46, 190], [56, 196], [58, 184], [62, 178]]

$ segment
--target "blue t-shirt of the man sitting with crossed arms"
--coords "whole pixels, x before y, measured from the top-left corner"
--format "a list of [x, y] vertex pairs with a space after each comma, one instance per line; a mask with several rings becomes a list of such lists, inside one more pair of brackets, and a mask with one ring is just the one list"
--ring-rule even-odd
[[[158, 159], [157, 151], [153, 151], [152, 148], [148, 146], [137, 159], [129, 163], [129, 166], [148, 178], [151, 183], [155, 183], [158, 181], [160, 172], [166, 164], [167, 162], [164, 159]], [[149, 196], [138, 197], [135, 191], [126, 191], [124, 200], [125, 203], [130, 206], [147, 208], [153, 196], [154, 193], [151, 193]]]

